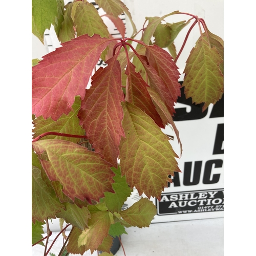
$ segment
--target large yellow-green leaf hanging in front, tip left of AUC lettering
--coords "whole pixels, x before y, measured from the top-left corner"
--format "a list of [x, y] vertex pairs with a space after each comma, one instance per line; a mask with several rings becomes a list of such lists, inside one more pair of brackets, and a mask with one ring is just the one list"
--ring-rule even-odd
[[160, 199], [170, 182], [168, 175], [179, 172], [176, 157], [168, 137], [155, 122], [131, 103], [122, 104], [125, 138], [120, 141], [121, 173], [139, 195]]

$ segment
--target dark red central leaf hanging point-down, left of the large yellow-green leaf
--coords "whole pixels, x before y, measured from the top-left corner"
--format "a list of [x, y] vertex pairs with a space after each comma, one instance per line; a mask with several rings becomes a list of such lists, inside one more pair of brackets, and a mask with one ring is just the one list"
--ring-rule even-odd
[[98, 69], [92, 77], [92, 86], [86, 92], [78, 117], [95, 152], [117, 168], [118, 146], [121, 136], [124, 137], [121, 123], [124, 96], [119, 62], [111, 58], [106, 63], [108, 66]]

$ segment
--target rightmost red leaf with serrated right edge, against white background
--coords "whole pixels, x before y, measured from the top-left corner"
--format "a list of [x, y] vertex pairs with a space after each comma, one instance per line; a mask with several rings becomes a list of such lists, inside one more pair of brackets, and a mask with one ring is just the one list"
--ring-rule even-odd
[[169, 89], [175, 102], [181, 96], [181, 85], [178, 82], [180, 72], [173, 57], [159, 46], [145, 46], [146, 57], [150, 65], [157, 71], [165, 86]]

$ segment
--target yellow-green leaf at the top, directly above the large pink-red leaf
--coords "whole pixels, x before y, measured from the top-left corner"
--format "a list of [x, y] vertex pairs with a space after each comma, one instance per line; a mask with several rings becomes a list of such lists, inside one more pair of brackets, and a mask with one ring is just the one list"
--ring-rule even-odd
[[104, 24], [94, 5], [87, 1], [77, 1], [76, 4], [75, 13], [72, 13], [72, 16], [77, 36], [99, 34], [101, 37], [109, 37], [108, 27]]

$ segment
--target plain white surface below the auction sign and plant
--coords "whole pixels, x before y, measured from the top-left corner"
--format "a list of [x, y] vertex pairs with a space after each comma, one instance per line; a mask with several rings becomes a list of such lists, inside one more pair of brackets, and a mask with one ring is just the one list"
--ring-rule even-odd
[[[153, 223], [149, 228], [126, 228], [122, 244], [126, 256], [222, 256], [224, 255], [224, 218]], [[54, 232], [50, 241], [53, 241]], [[51, 252], [58, 255], [61, 236]], [[43, 256], [44, 247], [32, 247], [33, 256]], [[50, 254], [48, 254], [50, 255]], [[84, 256], [97, 256], [86, 252]], [[115, 256], [123, 256], [120, 247]], [[71, 255], [70, 255], [71, 256]]]

